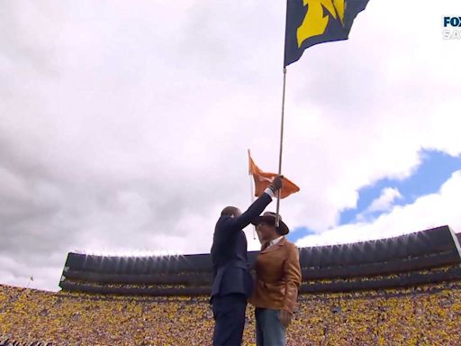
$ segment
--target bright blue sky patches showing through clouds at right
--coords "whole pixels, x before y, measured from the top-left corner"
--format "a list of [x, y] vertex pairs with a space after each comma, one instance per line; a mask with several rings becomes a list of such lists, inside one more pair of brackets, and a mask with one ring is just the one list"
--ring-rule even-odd
[[[461, 157], [453, 157], [438, 150], [421, 150], [420, 165], [414, 169], [411, 176], [403, 179], [383, 178], [375, 184], [362, 187], [358, 191], [357, 207], [348, 208], [339, 214], [339, 226], [360, 222], [372, 222], [381, 214], [389, 212], [393, 205], [411, 205], [421, 196], [437, 193], [440, 187], [457, 170], [461, 169]], [[387, 207], [373, 208], [370, 206], [385, 190], [397, 191], [390, 197]], [[299, 227], [288, 235], [290, 241], [297, 241], [314, 231]]]

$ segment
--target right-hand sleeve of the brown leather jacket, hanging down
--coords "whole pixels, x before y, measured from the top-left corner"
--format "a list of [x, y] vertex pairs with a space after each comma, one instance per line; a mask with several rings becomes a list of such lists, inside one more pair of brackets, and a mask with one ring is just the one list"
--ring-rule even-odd
[[294, 313], [298, 299], [298, 288], [301, 286], [301, 266], [298, 249], [292, 245], [284, 263], [285, 297], [283, 310]]

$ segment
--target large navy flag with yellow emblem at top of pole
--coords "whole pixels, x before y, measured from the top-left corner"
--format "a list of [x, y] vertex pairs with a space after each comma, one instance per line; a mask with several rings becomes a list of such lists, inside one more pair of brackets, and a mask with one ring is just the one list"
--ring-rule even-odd
[[357, 14], [368, 0], [287, 0], [285, 65], [317, 43], [347, 40]]

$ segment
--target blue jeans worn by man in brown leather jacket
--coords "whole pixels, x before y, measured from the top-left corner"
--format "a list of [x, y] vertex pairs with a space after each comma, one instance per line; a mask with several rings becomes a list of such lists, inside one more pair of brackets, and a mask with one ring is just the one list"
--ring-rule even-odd
[[258, 346], [285, 346], [285, 327], [278, 317], [280, 310], [255, 309], [256, 344]]

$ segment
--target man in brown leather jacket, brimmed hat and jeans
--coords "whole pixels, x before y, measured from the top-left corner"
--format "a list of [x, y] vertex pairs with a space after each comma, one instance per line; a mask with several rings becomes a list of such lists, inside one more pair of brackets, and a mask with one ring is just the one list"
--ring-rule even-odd
[[289, 232], [276, 214], [266, 212], [252, 221], [257, 226], [261, 251], [256, 260], [256, 282], [249, 302], [255, 306], [258, 346], [285, 346], [285, 329], [296, 308], [301, 286], [299, 252], [284, 237]]

